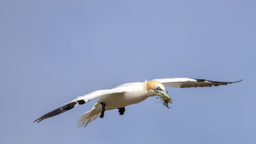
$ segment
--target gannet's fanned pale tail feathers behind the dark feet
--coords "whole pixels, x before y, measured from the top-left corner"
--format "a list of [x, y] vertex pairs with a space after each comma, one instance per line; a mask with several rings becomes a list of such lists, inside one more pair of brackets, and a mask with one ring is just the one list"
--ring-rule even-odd
[[79, 121], [78, 121], [79, 128], [81, 128], [83, 126], [86, 127], [87, 124], [94, 121], [96, 118], [98, 118], [100, 116], [100, 113], [94, 113], [94, 109], [95, 109], [95, 107], [93, 109], [91, 109], [89, 112], [84, 113], [84, 115], [82, 115], [79, 118]]

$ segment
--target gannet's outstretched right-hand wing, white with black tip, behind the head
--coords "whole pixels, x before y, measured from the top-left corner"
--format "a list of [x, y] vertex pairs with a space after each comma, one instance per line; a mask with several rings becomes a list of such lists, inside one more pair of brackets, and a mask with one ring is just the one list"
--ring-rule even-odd
[[[219, 86], [219, 85], [227, 85], [229, 83], [236, 83], [236, 82], [215, 82], [212, 80], [205, 80], [205, 79], [190, 79], [187, 77], [180, 77], [180, 78], [166, 78], [166, 79], [154, 79], [164, 86], [170, 86], [174, 88], [197, 88], [197, 87], [204, 87], [204, 86]], [[237, 81], [240, 82], [241, 80]]]

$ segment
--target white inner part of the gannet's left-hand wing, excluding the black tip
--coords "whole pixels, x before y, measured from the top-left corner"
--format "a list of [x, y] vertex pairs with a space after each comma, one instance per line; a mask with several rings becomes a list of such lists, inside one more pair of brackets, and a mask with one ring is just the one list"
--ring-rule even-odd
[[70, 104], [70, 103], [72, 103], [74, 101], [78, 101], [78, 100], [84, 100], [85, 103], [87, 103], [87, 101], [91, 101], [94, 98], [102, 97], [104, 95], [109, 95], [109, 94], [123, 93], [123, 92], [124, 92], [124, 89], [122, 89], [122, 88], [98, 90], [98, 91], [91, 92], [90, 94], [86, 94], [81, 97], [78, 97], [72, 101], [65, 103], [65, 104]]

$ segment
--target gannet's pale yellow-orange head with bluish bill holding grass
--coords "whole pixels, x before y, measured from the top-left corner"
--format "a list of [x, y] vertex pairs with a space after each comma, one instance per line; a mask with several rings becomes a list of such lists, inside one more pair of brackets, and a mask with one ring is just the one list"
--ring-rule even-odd
[[163, 86], [162, 83], [157, 82], [156, 80], [150, 80], [147, 83], [147, 92], [148, 94], [150, 94], [151, 96], [153, 95], [164, 95], [165, 97], [169, 96], [167, 95], [166, 91], [165, 91], [165, 86]]

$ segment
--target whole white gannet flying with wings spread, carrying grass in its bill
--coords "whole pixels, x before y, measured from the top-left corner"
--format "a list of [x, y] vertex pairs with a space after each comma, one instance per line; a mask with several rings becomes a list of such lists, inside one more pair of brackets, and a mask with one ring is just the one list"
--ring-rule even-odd
[[[241, 80], [237, 81], [240, 82]], [[93, 108], [84, 113], [79, 118], [78, 126], [86, 126], [88, 123], [94, 121], [100, 116], [103, 118], [105, 110], [119, 109], [119, 114], [123, 115], [126, 106], [130, 104], [140, 103], [148, 97], [154, 95], [166, 94], [165, 86], [171, 86], [174, 88], [191, 88], [191, 87], [204, 87], [204, 86], [219, 86], [227, 85], [229, 83], [236, 82], [215, 82], [205, 79], [190, 79], [190, 78], [172, 78], [172, 79], [154, 79], [145, 82], [134, 82], [124, 83], [123, 85], [117, 86], [112, 89], [103, 89], [99, 91], [91, 92], [90, 94], [78, 97], [72, 101], [65, 103], [65, 106], [59, 107], [58, 109], [52, 110], [49, 113], [42, 115], [34, 122], [40, 122], [43, 119], [50, 118], [52, 116], [59, 115], [60, 113], [66, 112], [67, 110], [73, 109], [79, 104], [85, 104], [94, 98], [99, 100], [94, 104]]]

